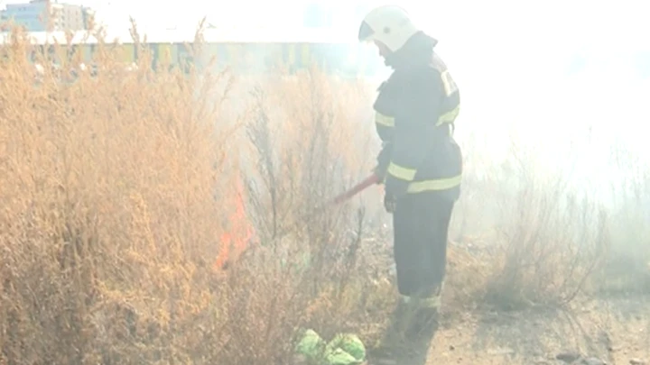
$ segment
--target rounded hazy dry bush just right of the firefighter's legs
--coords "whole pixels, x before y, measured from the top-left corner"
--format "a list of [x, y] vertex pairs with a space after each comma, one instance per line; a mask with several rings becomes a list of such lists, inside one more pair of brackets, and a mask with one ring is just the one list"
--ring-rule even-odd
[[[534, 146], [513, 144], [500, 169], [480, 178], [469, 173], [469, 199], [479, 196], [474, 189], [490, 198], [461, 214], [492, 229], [465, 239], [473, 264], [465, 260], [460, 270], [475, 272], [464, 278], [466, 301], [505, 310], [567, 304], [587, 293], [606, 258], [610, 237], [604, 207], [587, 191], [571, 187], [565, 169], [543, 169], [531, 153]], [[466, 204], [472, 202], [477, 203]]]

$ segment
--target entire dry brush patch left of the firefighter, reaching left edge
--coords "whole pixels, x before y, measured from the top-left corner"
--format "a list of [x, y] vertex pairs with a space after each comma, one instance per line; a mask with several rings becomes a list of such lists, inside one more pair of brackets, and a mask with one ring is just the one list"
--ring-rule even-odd
[[[328, 335], [379, 322], [383, 303], [363, 297], [382, 282], [366, 280], [357, 260], [363, 214], [344, 205], [302, 220], [349, 182], [338, 178], [368, 168], [351, 132], [362, 121], [348, 123], [356, 110], [332, 96], [345, 86], [316, 70], [280, 78], [261, 85], [269, 100], [251, 97], [250, 113], [232, 119], [227, 74], [153, 72], [144, 50], [128, 70], [100, 44], [94, 76], [59, 46], [37, 56], [35, 75], [16, 38], [0, 73], [2, 361], [287, 363], [298, 328]], [[283, 132], [270, 141], [280, 158], [270, 173], [238, 153], [260, 118], [273, 124], [268, 111]], [[361, 153], [342, 153], [353, 147]], [[273, 187], [242, 189], [272, 175]], [[273, 189], [290, 202], [266, 201]], [[292, 234], [274, 235], [278, 224]], [[260, 249], [237, 260], [228, 234]], [[305, 255], [309, 265], [294, 264]]]

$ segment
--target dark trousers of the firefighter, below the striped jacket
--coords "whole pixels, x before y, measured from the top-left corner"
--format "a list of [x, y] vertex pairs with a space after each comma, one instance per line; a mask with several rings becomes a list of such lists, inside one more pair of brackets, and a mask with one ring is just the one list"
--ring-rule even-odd
[[438, 192], [407, 194], [397, 201], [393, 249], [402, 296], [429, 298], [441, 288], [454, 203]]

